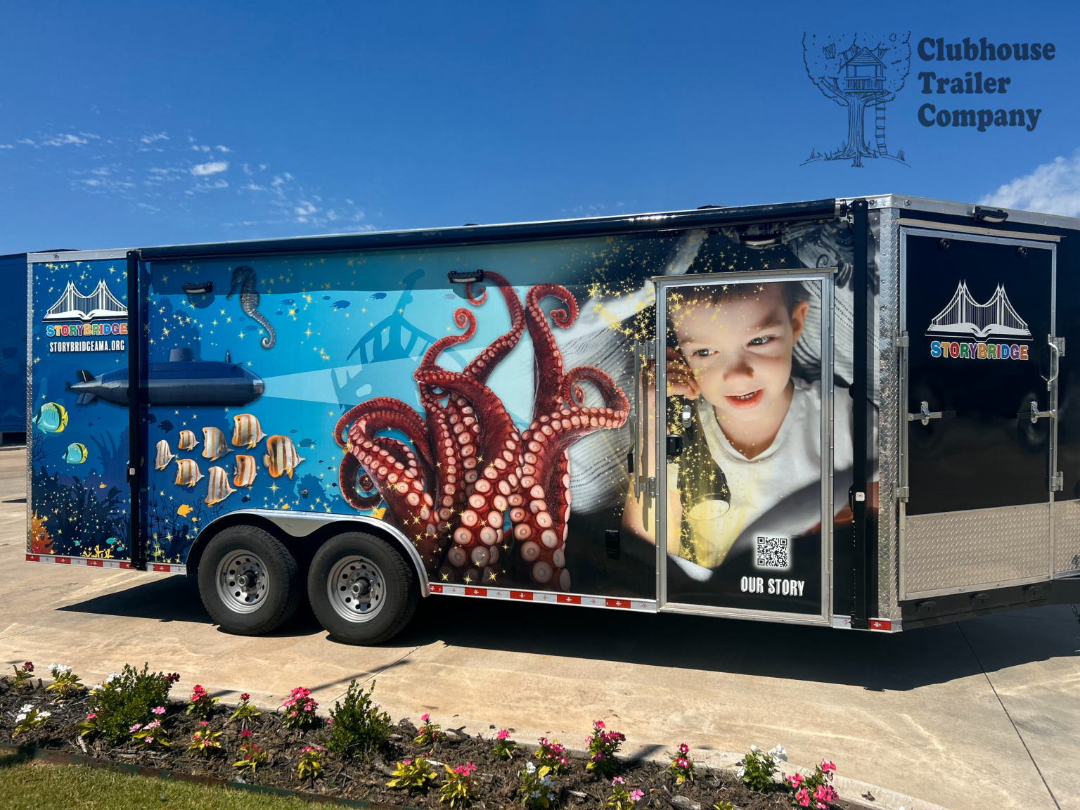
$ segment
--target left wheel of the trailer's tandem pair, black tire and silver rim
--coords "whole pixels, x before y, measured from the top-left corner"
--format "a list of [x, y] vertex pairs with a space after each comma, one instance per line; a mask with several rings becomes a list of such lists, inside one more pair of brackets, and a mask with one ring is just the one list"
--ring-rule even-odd
[[199, 594], [206, 611], [221, 630], [237, 635], [280, 627], [296, 612], [301, 586], [288, 549], [257, 526], [222, 529], [199, 562]]

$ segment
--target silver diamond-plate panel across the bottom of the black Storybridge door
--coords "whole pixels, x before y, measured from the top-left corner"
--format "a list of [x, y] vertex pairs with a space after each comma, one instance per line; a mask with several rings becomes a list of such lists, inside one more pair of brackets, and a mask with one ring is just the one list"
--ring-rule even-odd
[[1045, 577], [1050, 504], [915, 515], [904, 543], [905, 596]]

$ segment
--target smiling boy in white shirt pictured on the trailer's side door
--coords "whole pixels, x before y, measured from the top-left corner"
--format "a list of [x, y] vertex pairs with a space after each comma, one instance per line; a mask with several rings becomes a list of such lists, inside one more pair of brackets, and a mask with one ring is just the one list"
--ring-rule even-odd
[[[693, 579], [718, 568], [747, 529], [820, 531], [822, 380], [804, 378], [811, 375], [792, 359], [811, 305], [820, 307], [820, 285], [747, 281], [667, 293], [667, 397], [693, 413], [687, 448], [667, 463], [667, 552]], [[838, 473], [852, 465], [851, 427], [851, 399], [836, 389]], [[623, 528], [654, 543], [643, 501], [627, 496]]]

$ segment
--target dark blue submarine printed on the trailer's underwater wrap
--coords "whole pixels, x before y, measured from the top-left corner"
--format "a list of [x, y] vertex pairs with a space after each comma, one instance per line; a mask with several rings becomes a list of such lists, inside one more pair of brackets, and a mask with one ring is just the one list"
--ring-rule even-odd
[[[118, 368], [95, 377], [78, 372], [79, 382], [70, 390], [79, 394], [79, 405], [95, 400], [127, 405], [127, 369]], [[194, 360], [191, 349], [173, 349], [167, 363], [150, 363], [146, 375], [148, 405], [246, 405], [258, 399], [266, 384], [239, 363], [229, 360]]]

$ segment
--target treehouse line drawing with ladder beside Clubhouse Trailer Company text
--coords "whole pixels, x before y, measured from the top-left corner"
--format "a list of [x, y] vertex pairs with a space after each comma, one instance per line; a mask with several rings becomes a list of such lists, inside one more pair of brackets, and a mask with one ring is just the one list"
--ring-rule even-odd
[[[826, 97], [847, 110], [848, 136], [838, 147], [810, 149], [800, 165], [818, 161], [893, 160], [907, 165], [904, 150], [890, 152], [886, 145], [886, 105], [904, 89], [912, 69], [910, 31], [905, 33], [852, 33], [840, 37], [804, 33], [802, 62], [807, 75]], [[867, 132], [867, 111], [874, 113]]]

